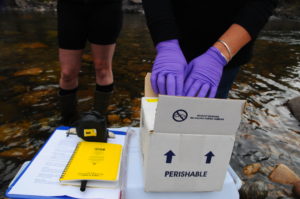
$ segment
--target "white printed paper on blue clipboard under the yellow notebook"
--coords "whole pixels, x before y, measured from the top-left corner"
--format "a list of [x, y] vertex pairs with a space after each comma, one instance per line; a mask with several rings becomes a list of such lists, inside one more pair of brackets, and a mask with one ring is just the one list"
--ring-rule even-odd
[[[116, 138], [109, 139], [108, 142], [124, 144], [124, 140], [124, 135], [116, 135]], [[79, 141], [81, 139], [76, 135], [70, 134], [67, 137], [66, 130], [56, 130], [8, 194], [70, 196], [74, 198], [119, 198], [119, 188], [87, 188], [85, 192], [81, 192], [79, 187], [60, 184], [60, 175]]]

